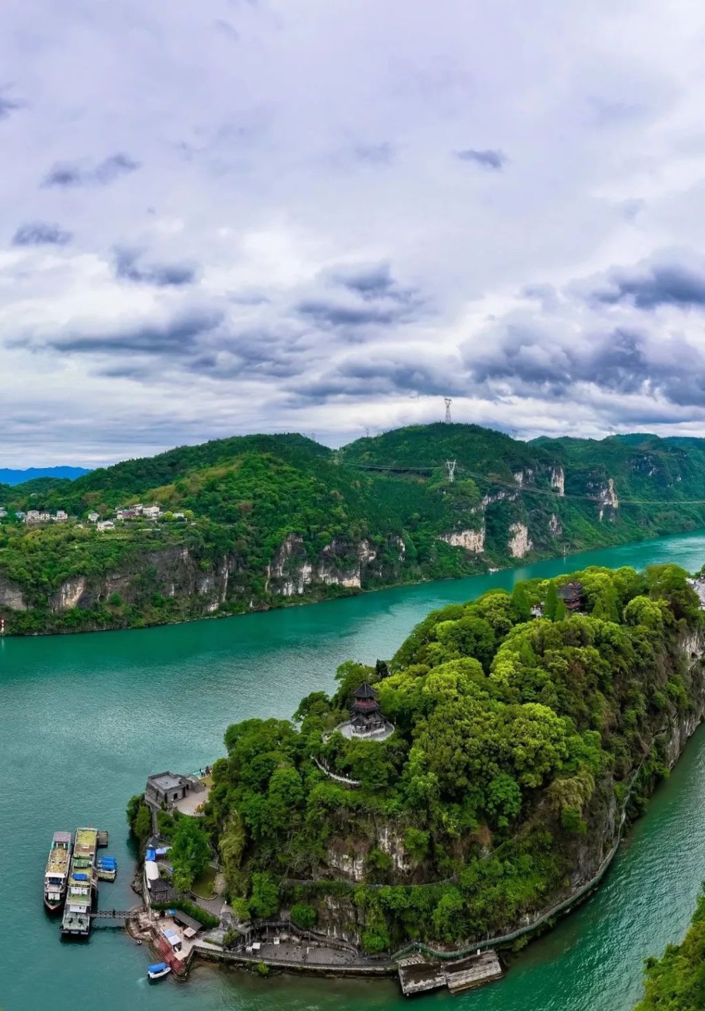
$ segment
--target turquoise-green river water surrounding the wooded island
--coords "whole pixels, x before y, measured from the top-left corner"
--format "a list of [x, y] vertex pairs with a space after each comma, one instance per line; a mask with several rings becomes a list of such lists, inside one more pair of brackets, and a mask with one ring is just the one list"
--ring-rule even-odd
[[[518, 578], [587, 564], [705, 562], [705, 533], [628, 545], [488, 576], [382, 590], [315, 607], [136, 632], [0, 641], [0, 1007], [2, 1011], [398, 1011], [395, 982], [343, 982], [198, 966], [149, 986], [150, 953], [120, 930], [62, 943], [42, 907], [52, 833], [90, 823], [119, 863], [100, 906], [127, 908], [127, 798], [149, 772], [223, 753], [229, 723], [288, 717], [330, 690], [344, 659], [388, 657], [432, 608]], [[641, 966], [682, 936], [705, 878], [705, 730], [696, 733], [602, 888], [484, 990], [420, 998], [429, 1009], [628, 1011]]]

